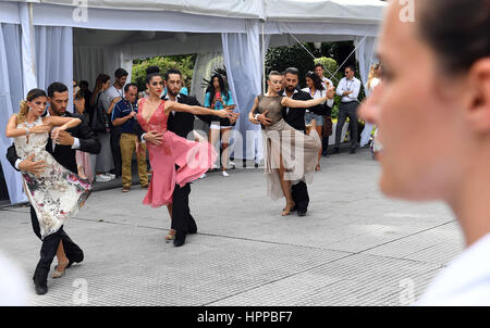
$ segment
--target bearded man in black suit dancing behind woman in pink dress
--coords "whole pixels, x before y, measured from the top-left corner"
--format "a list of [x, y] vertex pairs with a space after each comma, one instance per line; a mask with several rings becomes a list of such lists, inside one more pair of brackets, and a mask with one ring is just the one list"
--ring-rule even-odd
[[[156, 67], [158, 70], [158, 67]], [[148, 71], [147, 74], [156, 73], [159, 71], [152, 70]], [[200, 103], [196, 98], [181, 94], [182, 88], [182, 73], [179, 70], [169, 70], [166, 73], [166, 85], [167, 85], [167, 96], [162, 99], [167, 101], [176, 101], [179, 103], [184, 103], [188, 105], [199, 105]], [[194, 114], [186, 112], [171, 112], [169, 114], [169, 119], [167, 122], [167, 128], [173, 131], [182, 138], [189, 137], [189, 134], [194, 130]], [[197, 115], [204, 122], [210, 124], [211, 121], [220, 121], [219, 117], [209, 115]], [[228, 118], [224, 118], [228, 121]], [[228, 122], [222, 122], [224, 125], [232, 125], [237, 119], [237, 114], [234, 114], [232, 118]], [[144, 133], [142, 127], [136, 124], [134, 127], [135, 133], [138, 135], [138, 140], [145, 140], [147, 142], [156, 142], [161, 139], [161, 134], [156, 131]], [[194, 139], [194, 135], [191, 135]], [[175, 169], [179, 166], [175, 165]], [[176, 230], [175, 239], [173, 244], [175, 247], [181, 247], [185, 243], [185, 238], [187, 234], [196, 234], [197, 225], [194, 217], [191, 215], [191, 209], [188, 207], [188, 195], [191, 193], [191, 184], [180, 187], [177, 184], [173, 190], [173, 207], [172, 207], [172, 226], [171, 228]]]

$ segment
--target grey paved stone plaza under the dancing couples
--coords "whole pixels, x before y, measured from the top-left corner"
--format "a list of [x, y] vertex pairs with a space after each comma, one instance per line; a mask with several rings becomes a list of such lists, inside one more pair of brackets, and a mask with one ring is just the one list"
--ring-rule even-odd
[[[218, 173], [192, 186], [198, 234], [164, 242], [166, 207], [145, 191], [93, 193], [66, 232], [85, 261], [29, 305], [408, 305], [463, 250], [441, 203], [389, 200], [368, 150], [322, 159], [306, 217], [282, 217], [261, 168]], [[38, 261], [28, 207], [0, 210], [0, 250], [29, 278]], [[54, 260], [56, 262], [56, 260]], [[54, 263], [53, 263], [54, 266]], [[52, 267], [53, 267], [52, 266]], [[32, 280], [30, 280], [32, 281]], [[34, 288], [33, 288], [34, 290]]]

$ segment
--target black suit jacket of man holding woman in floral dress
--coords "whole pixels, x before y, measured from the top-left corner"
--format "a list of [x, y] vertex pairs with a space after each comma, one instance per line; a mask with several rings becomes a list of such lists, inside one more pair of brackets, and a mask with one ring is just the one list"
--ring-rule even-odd
[[[73, 137], [78, 138], [79, 140], [79, 149], [81, 151], [85, 151], [93, 154], [98, 154], [100, 152], [100, 142], [95, 138], [94, 131], [88, 127], [87, 123], [83, 119], [83, 117], [78, 114], [66, 112], [65, 116], [68, 117], [77, 117], [82, 119], [82, 123], [77, 126], [68, 129]], [[46, 144], [46, 150], [52, 154], [54, 160], [58, 161], [65, 168], [70, 169], [73, 173], [77, 173], [76, 168], [76, 157], [75, 151], [71, 146], [61, 146], [57, 144], [54, 151], [52, 150], [52, 140], [51, 136], [48, 139], [48, 143]], [[10, 164], [15, 168], [15, 162], [20, 159], [17, 156], [17, 152], [15, 151], [14, 144], [12, 144], [7, 151], [7, 159]], [[16, 169], [16, 168], [15, 168]]]

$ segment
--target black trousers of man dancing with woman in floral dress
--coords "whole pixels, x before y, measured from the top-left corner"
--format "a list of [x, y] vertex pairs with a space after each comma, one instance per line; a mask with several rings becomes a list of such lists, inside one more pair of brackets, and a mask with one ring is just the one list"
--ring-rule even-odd
[[[39, 222], [33, 206], [30, 206], [30, 222], [33, 224], [34, 234], [41, 239]], [[49, 269], [51, 267], [52, 260], [57, 255], [60, 240], [63, 242], [64, 253], [71, 262], [79, 263], [84, 261], [84, 252], [82, 249], [72, 241], [66, 232], [64, 232], [63, 227], [61, 227], [57, 232], [47, 236], [42, 240], [40, 260], [37, 263], [33, 277], [36, 285], [42, 286], [48, 281]]]

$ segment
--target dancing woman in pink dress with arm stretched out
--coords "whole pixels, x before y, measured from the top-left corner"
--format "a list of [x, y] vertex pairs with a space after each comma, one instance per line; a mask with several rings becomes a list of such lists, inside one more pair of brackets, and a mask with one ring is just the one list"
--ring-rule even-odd
[[[143, 200], [151, 207], [167, 205], [172, 213], [172, 193], [175, 184], [181, 187], [198, 179], [215, 163], [218, 154], [209, 142], [196, 142], [179, 137], [167, 129], [171, 112], [188, 112], [198, 115], [226, 117], [230, 111], [213, 111], [160, 99], [163, 79], [158, 74], [146, 78], [149, 97], [138, 101], [137, 119], [145, 131], [156, 130], [162, 135], [161, 142], [148, 143], [148, 153], [154, 169], [148, 192]], [[175, 171], [175, 165], [179, 169]]]

